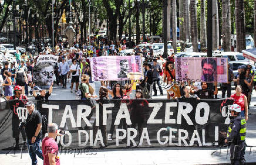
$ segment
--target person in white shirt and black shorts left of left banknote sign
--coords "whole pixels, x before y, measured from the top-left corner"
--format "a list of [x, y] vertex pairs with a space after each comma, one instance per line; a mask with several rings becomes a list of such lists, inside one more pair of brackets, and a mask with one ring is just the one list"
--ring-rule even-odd
[[71, 90], [70, 92], [73, 92], [73, 84], [76, 83], [76, 91], [78, 91], [78, 85], [79, 85], [79, 75], [80, 75], [80, 67], [78, 64], [76, 64], [76, 59], [72, 59], [73, 65], [70, 67], [70, 73], [72, 73], [72, 79], [71, 79]]

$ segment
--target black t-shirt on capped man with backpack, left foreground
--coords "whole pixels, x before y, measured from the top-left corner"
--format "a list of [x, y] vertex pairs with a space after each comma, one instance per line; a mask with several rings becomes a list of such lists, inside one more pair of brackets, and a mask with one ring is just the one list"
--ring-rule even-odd
[[[29, 140], [32, 139], [33, 136], [35, 136], [36, 128], [38, 128], [38, 124], [42, 123], [42, 116], [41, 114], [34, 110], [32, 114], [28, 114], [28, 118], [26, 119], [26, 137], [28, 137]], [[42, 129], [38, 133], [38, 137], [41, 137], [42, 135]]]

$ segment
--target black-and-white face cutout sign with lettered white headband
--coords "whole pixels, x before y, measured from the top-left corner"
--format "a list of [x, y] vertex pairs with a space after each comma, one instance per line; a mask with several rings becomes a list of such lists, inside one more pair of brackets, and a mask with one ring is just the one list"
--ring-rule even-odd
[[42, 90], [48, 90], [53, 82], [55, 63], [59, 57], [52, 54], [38, 56], [33, 67], [33, 82]]

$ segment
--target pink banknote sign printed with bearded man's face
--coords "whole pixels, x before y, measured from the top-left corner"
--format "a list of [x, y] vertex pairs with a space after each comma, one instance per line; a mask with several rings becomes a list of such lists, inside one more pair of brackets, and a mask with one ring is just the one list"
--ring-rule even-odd
[[176, 80], [227, 83], [227, 58], [177, 57]]

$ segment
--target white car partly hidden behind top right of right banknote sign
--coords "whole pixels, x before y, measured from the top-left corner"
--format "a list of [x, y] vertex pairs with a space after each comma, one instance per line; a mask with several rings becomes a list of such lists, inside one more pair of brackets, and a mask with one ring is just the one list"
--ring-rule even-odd
[[239, 62], [249, 62], [250, 60], [242, 56], [242, 53], [234, 51], [223, 51], [217, 54], [213, 54], [213, 57], [225, 57], [228, 61], [239, 61]]

